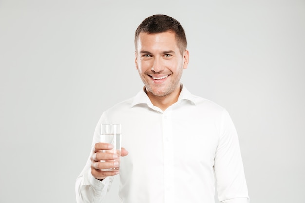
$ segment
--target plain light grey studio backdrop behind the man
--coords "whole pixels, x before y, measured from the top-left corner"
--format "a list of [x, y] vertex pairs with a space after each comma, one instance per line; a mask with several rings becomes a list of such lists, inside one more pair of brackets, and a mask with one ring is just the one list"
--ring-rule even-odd
[[0, 203], [76, 202], [100, 115], [143, 87], [153, 14], [186, 31], [184, 85], [229, 111], [251, 203], [304, 203], [304, 0], [0, 0]]

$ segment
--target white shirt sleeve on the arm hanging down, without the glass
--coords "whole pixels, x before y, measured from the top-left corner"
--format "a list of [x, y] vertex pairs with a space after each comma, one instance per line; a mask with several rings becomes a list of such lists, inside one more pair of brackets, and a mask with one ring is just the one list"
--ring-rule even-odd
[[222, 113], [214, 170], [220, 202], [249, 203], [237, 132], [226, 110]]

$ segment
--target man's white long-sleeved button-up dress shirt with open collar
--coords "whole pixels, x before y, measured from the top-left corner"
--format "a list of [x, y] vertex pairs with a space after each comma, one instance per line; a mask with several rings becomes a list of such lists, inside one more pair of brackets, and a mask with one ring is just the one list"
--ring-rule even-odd
[[[237, 133], [228, 112], [185, 87], [165, 111], [142, 89], [105, 111], [102, 123], [122, 125], [119, 197], [122, 203], [248, 203]], [[101, 203], [113, 177], [95, 179], [90, 159], [76, 180], [77, 203]]]

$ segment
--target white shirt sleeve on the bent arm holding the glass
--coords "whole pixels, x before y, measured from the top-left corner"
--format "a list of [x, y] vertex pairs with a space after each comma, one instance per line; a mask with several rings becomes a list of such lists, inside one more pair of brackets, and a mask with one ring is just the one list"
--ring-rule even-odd
[[93, 153], [93, 146], [100, 140], [100, 124], [103, 115], [96, 125], [92, 148], [88, 157], [87, 163], [76, 179], [75, 192], [77, 203], [101, 203], [105, 198], [106, 193], [109, 191], [114, 177], [107, 177], [103, 181], [97, 180], [91, 174], [91, 161], [90, 157]]

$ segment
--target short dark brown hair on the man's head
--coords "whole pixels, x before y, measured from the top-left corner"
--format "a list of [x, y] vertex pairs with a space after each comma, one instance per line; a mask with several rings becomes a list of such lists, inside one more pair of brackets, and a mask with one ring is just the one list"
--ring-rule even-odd
[[137, 48], [137, 40], [140, 33], [163, 33], [166, 31], [172, 31], [176, 34], [176, 42], [180, 49], [181, 54], [187, 48], [187, 39], [185, 37], [185, 32], [176, 19], [162, 14], [152, 15], [143, 20], [143, 22], [138, 26], [135, 31], [134, 44], [135, 49]]

